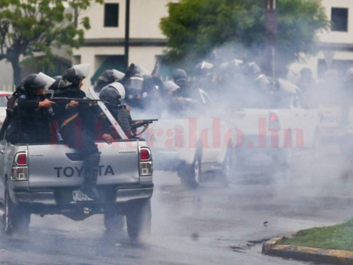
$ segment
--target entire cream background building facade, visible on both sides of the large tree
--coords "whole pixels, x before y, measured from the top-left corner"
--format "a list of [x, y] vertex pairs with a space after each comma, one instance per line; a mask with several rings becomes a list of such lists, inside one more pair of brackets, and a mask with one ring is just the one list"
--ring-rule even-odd
[[[310, 68], [313, 76], [318, 78], [331, 68], [343, 73], [353, 67], [353, 1], [318, 1], [332, 21], [331, 29], [318, 32], [320, 52], [316, 56], [303, 54], [301, 62], [289, 67], [294, 76], [298, 76], [303, 67]], [[152, 71], [158, 56], [163, 55], [167, 38], [162, 34], [159, 23], [162, 17], [168, 16], [168, 2], [178, 0], [130, 0], [128, 64], [134, 62]], [[94, 83], [106, 69], [125, 69], [125, 4], [126, 0], [105, 0], [103, 5], [92, 0], [88, 10], [79, 14], [78, 21], [89, 17], [91, 29], [85, 32], [85, 44], [73, 50], [72, 63], [91, 64], [86, 85]], [[0, 67], [0, 89], [12, 89], [11, 65], [2, 60]]]

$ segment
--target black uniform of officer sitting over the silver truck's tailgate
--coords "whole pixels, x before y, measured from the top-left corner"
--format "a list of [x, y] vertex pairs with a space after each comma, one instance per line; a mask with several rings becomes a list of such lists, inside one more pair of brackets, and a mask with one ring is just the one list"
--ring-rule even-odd
[[[85, 98], [85, 93], [74, 85], [55, 91], [54, 97]], [[85, 184], [95, 185], [97, 182], [100, 153], [95, 139], [96, 119], [89, 104], [66, 109], [66, 103], [56, 104], [54, 112], [59, 121], [62, 138], [65, 143], [79, 151], [84, 161]], [[63, 125], [65, 120], [78, 114], [77, 118]]]

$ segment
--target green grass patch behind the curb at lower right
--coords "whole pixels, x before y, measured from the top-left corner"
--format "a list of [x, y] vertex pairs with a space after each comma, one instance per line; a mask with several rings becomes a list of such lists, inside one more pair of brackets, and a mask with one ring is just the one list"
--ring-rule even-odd
[[300, 230], [293, 238], [282, 239], [277, 244], [353, 251], [353, 219], [343, 224]]

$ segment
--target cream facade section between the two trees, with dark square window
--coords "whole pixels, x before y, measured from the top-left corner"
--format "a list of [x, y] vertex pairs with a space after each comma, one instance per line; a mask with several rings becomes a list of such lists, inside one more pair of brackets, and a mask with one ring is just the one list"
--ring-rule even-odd
[[[130, 1], [128, 64], [135, 63], [152, 71], [158, 56], [166, 49], [160, 19], [168, 16], [170, 0]], [[115, 68], [125, 70], [124, 38], [126, 0], [106, 0], [93, 4], [80, 14], [89, 17], [91, 29], [85, 33], [85, 44], [73, 50], [73, 64], [90, 63], [90, 76], [85, 84], [93, 84], [101, 72]]]

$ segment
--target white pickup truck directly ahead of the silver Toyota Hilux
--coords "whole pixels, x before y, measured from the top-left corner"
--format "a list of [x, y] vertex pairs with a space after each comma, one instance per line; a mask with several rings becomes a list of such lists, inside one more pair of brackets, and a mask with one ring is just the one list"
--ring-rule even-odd
[[232, 135], [223, 118], [208, 113], [212, 105], [209, 96], [201, 89], [199, 93], [203, 108], [195, 112], [186, 108], [177, 115], [162, 113], [144, 138], [154, 153], [154, 168], [177, 171], [183, 185], [197, 188], [209, 175], [227, 185], [232, 174]]

